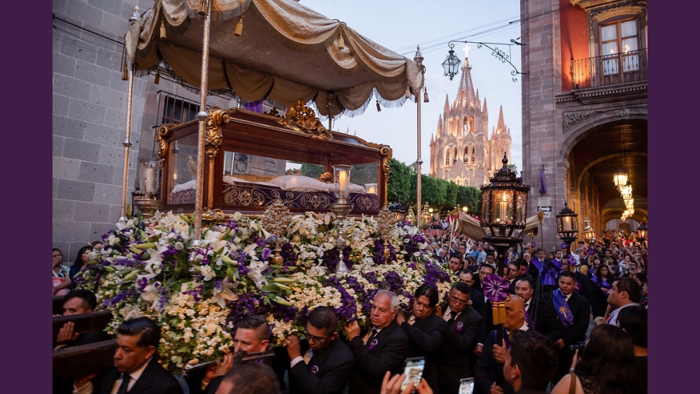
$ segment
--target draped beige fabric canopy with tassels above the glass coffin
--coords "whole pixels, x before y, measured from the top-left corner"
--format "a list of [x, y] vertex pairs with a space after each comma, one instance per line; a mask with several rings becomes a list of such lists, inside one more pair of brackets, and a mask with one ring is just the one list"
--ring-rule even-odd
[[[232, 87], [246, 101], [269, 97], [286, 106], [314, 99], [321, 115], [328, 115], [330, 99], [331, 115], [351, 116], [362, 113], [373, 97], [383, 106], [400, 106], [406, 87], [413, 96], [423, 87], [423, 73], [412, 59], [293, 0], [210, 1], [209, 90]], [[156, 0], [126, 36], [134, 70], [162, 59], [186, 83], [200, 86], [200, 5], [201, 0]], [[236, 36], [241, 15], [243, 31]]]

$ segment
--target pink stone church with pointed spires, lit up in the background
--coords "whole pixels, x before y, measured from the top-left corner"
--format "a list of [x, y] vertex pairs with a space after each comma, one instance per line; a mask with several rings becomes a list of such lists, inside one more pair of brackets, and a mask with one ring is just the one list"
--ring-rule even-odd
[[482, 106], [479, 91], [474, 89], [471, 66], [465, 59], [457, 96], [437, 120], [437, 130], [430, 136], [430, 176], [461, 186], [479, 188], [503, 167], [503, 153], [510, 156], [510, 129], [503, 122], [503, 106], [498, 123], [491, 129], [486, 98]]

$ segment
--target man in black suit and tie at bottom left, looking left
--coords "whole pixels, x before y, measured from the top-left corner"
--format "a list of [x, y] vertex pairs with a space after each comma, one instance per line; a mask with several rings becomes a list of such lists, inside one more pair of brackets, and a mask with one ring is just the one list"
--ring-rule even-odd
[[117, 329], [114, 368], [94, 381], [78, 379], [80, 394], [183, 394], [180, 383], [155, 360], [160, 328], [150, 318], [124, 321]]

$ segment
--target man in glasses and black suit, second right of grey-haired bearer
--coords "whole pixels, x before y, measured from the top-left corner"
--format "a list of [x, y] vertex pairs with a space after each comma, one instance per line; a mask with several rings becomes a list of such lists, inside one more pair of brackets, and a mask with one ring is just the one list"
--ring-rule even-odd
[[469, 304], [472, 288], [457, 281], [447, 296], [448, 307], [442, 318], [447, 321], [447, 335], [442, 343], [437, 378], [441, 393], [456, 393], [459, 379], [470, 375], [470, 355], [474, 353], [484, 318]]

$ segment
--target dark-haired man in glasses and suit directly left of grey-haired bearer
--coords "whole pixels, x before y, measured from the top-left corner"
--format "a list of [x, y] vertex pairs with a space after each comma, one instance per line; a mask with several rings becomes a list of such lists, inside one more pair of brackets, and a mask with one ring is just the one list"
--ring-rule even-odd
[[342, 393], [354, 358], [337, 337], [337, 328], [338, 318], [333, 309], [316, 307], [306, 324], [307, 341], [300, 343], [296, 335], [286, 339], [290, 394]]

